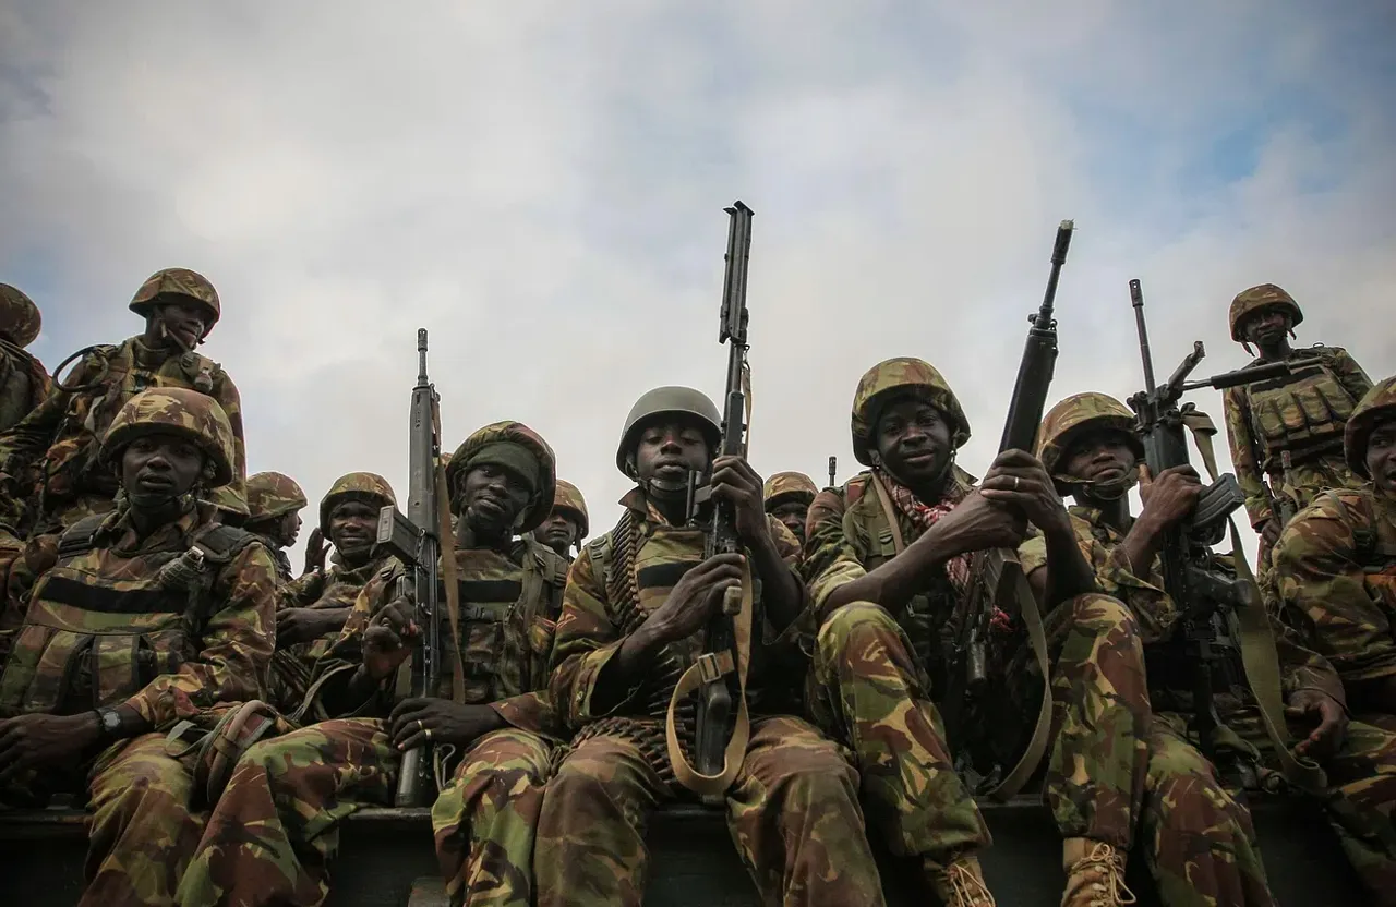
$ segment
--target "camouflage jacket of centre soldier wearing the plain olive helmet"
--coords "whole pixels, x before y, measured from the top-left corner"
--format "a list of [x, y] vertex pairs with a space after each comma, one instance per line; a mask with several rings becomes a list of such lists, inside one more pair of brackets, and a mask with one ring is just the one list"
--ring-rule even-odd
[[[610, 716], [663, 720], [680, 675], [702, 654], [702, 632], [670, 643], [655, 670], [621, 702], [609, 710], [593, 706], [597, 678], [625, 638], [664, 603], [684, 574], [704, 561], [702, 529], [670, 525], [638, 488], [620, 504], [625, 508], [621, 522], [589, 541], [572, 561], [557, 622], [550, 689], [572, 730]], [[776, 550], [793, 572], [800, 543], [773, 516], [768, 523]], [[789, 666], [804, 661], [801, 649], [807, 650], [812, 639], [801, 643], [794, 624], [778, 631], [765, 618], [761, 580], [752, 579], [748, 709], [752, 714], [789, 713], [799, 707], [803, 681], [803, 673]]]

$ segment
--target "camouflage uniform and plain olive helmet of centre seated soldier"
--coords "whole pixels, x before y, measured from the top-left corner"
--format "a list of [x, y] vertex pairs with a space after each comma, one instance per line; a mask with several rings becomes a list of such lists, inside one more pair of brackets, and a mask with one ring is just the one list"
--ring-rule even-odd
[[[649, 403], [681, 396], [683, 407]], [[715, 441], [712, 402], [688, 388], [641, 398], [623, 433], [617, 465], [652, 417], [698, 416]], [[638, 414], [637, 414], [638, 413]], [[716, 449], [712, 444], [711, 449]], [[645, 827], [652, 809], [685, 795], [674, 781], [664, 744], [664, 714], [678, 677], [701, 653], [702, 634], [670, 643], [652, 671], [616, 707], [593, 705], [596, 681], [625, 638], [704, 560], [701, 529], [670, 525], [639, 488], [621, 498], [624, 515], [572, 564], [557, 625], [551, 695], [577, 738], [549, 783], [539, 826], [539, 907], [639, 904], [645, 890]], [[787, 564], [799, 544], [771, 519]], [[847, 755], [794, 717], [789, 678], [805, 659], [794, 628], [776, 632], [764, 620], [755, 583], [747, 680], [751, 738], [741, 770], [725, 795], [727, 827], [765, 903], [881, 904], [877, 869], [863, 833], [857, 773]], [[808, 639], [805, 639], [808, 642]], [[681, 745], [691, 748], [694, 712], [681, 709]]]

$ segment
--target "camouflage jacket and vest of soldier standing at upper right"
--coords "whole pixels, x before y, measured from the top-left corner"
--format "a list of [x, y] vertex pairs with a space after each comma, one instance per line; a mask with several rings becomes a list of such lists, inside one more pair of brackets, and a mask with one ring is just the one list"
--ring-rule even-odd
[[1343, 427], [1372, 388], [1361, 366], [1337, 346], [1298, 349], [1287, 361], [1294, 374], [1227, 388], [1222, 396], [1231, 462], [1252, 526], [1273, 515], [1265, 476], [1280, 484], [1284, 451], [1295, 465], [1325, 456], [1342, 463]]

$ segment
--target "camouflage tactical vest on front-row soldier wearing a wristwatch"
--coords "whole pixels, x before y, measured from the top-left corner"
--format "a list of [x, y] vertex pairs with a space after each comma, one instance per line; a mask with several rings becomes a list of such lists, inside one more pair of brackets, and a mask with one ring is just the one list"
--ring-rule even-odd
[[184, 551], [142, 555], [138, 576], [102, 576], [87, 555], [105, 519], [78, 520], [59, 540], [0, 674], [0, 716], [119, 705], [198, 657], [218, 571], [257, 540], [215, 523]]

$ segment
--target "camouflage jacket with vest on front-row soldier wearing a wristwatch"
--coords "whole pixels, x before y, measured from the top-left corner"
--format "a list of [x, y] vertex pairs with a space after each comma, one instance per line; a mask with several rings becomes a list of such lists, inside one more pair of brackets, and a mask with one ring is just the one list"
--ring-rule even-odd
[[190, 511], [141, 539], [123, 508], [77, 523], [56, 547], [35, 544], [15, 568], [28, 572], [15, 583], [29, 589], [28, 607], [0, 675], [0, 713], [127, 705], [165, 730], [260, 696], [275, 568], [255, 537], [211, 515]]

